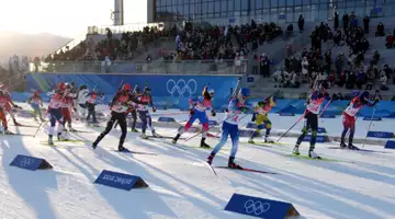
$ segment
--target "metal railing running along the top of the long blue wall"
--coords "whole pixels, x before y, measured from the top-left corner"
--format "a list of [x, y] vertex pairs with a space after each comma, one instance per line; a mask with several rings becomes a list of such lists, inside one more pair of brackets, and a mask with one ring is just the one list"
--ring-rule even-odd
[[171, 73], [171, 74], [246, 74], [248, 60], [183, 61], [64, 61], [30, 62], [30, 72], [40, 73]]

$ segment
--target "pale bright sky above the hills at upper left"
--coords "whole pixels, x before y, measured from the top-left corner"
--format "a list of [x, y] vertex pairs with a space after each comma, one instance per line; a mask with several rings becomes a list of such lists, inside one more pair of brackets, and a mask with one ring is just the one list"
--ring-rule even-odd
[[[112, 24], [114, 0], [0, 0], [0, 31], [74, 37]], [[146, 0], [124, 0], [125, 24], [147, 21]]]

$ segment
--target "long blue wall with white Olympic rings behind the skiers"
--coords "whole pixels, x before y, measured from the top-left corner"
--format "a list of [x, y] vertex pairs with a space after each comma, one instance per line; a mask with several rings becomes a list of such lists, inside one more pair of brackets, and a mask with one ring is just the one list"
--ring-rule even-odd
[[[145, 85], [151, 89], [154, 104], [159, 107], [177, 106], [188, 108], [188, 99], [202, 95], [203, 88], [210, 83], [214, 89], [213, 105], [222, 108], [227, 105], [230, 88], [235, 88], [237, 76], [172, 76], [172, 74], [74, 74], [74, 73], [27, 73], [26, 91], [36, 90], [48, 92], [60, 82], [75, 82], [77, 87], [88, 85], [90, 90], [95, 88], [109, 97], [109, 102], [117, 91], [121, 82], [137, 85], [142, 91]], [[23, 101], [25, 101], [27, 96]]]

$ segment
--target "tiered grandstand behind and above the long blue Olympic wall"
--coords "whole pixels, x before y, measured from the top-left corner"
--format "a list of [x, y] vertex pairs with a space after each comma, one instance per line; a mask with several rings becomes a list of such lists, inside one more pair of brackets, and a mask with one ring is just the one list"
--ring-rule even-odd
[[[341, 2], [337, 2], [338, 10], [335, 10], [336, 5], [332, 5], [332, 10], [319, 11], [319, 15], [314, 15], [315, 4], [313, 4], [311, 11], [280, 13], [281, 15], [278, 16], [267, 16], [266, 20], [262, 19], [264, 16], [260, 15], [245, 15], [245, 10], [249, 11], [248, 13], [257, 13], [253, 11], [253, 7], [257, 7], [257, 9], [261, 7], [258, 1], [248, 9], [245, 9], [244, 2], [241, 2], [240, 8], [230, 9], [229, 2], [227, 4], [222, 2], [221, 5], [226, 4], [228, 8], [218, 10], [221, 12], [225, 10], [229, 13], [234, 11], [233, 14], [239, 15], [229, 19], [226, 15], [227, 13], [224, 13], [224, 16], [221, 13], [219, 19], [210, 19], [210, 21], [207, 20], [211, 18], [210, 10], [207, 14], [202, 12], [204, 7], [210, 8], [210, 5], [195, 5], [201, 9], [193, 13], [191, 10], [187, 10], [185, 7], [185, 10], [182, 10], [182, 16], [178, 14], [178, 16], [169, 18], [165, 9], [171, 9], [172, 3], [167, 5], [166, 1], [157, 1], [156, 4], [149, 4], [148, 2], [149, 5], [156, 9], [154, 12], [148, 12], [154, 18], [150, 22], [156, 23], [91, 26], [83, 37], [82, 35], [76, 37], [49, 55], [44, 61], [32, 64], [31, 70], [36, 72], [75, 73], [240, 74], [246, 78], [246, 82], [247, 78], [249, 78], [248, 85], [253, 89], [257, 97], [275, 91], [280, 91], [280, 93], [284, 93], [289, 97], [304, 97], [305, 93], [308, 92], [309, 83], [315, 80], [315, 77], [311, 76], [312, 72], [309, 72], [309, 79], [304, 81], [302, 69], [294, 69], [297, 85], [291, 88], [284, 88], [286, 85], [283, 85], [280, 90], [274, 88], [278, 87], [279, 80], [273, 76], [276, 76], [275, 72], [281, 69], [280, 81], [286, 82], [293, 76], [290, 70], [284, 76], [283, 70], [286, 70], [290, 61], [291, 64], [298, 62], [297, 66], [302, 66], [300, 62], [303, 59], [303, 49], [308, 50], [312, 47], [312, 31], [324, 22], [329, 26], [330, 36], [320, 43], [320, 56], [324, 57], [324, 54], [330, 50], [331, 64], [323, 77], [325, 80], [330, 79], [330, 87], [334, 92], [351, 92], [350, 88], [340, 88], [338, 83], [335, 83], [342, 77], [336, 73], [338, 68], [335, 60], [339, 54], [345, 54], [346, 62], [351, 64], [347, 65], [347, 70], [352, 69], [352, 71], [356, 71], [357, 67], [353, 61], [350, 61], [356, 58], [356, 55], [349, 56], [350, 48], [346, 45], [346, 41], [341, 41], [341, 46], [337, 46], [334, 42], [332, 36], [336, 34], [334, 30], [334, 23], [336, 23], [334, 11], [339, 13], [337, 22], [339, 30], [343, 32], [343, 14], [340, 13], [348, 12], [351, 18], [351, 14], [356, 11], [354, 20], [357, 25], [362, 26], [364, 19], [362, 11], [368, 11], [368, 8], [363, 10], [358, 7], [342, 9], [340, 7]], [[270, 9], [280, 7], [280, 4], [271, 3]], [[216, 4], [213, 7], [216, 7]], [[148, 10], [151, 9], [148, 8]], [[359, 12], [361, 14], [358, 14]], [[213, 18], [216, 18], [215, 12], [213, 13]], [[298, 31], [301, 28], [300, 14], [304, 18], [303, 31]], [[390, 12], [386, 11], [386, 14], [390, 14]], [[369, 24], [370, 31], [363, 35], [370, 44], [369, 49], [364, 53], [363, 61], [365, 74], [368, 76], [368, 70], [373, 71], [374, 68], [379, 70], [380, 74], [385, 64], [390, 66], [390, 69], [394, 67], [392, 59], [387, 58], [391, 56], [392, 49], [386, 48], [385, 37], [377, 37], [375, 34], [376, 25], [380, 22], [385, 24], [385, 35], [392, 33], [394, 26], [390, 22], [391, 18], [376, 18], [384, 15], [379, 10], [379, 7], [373, 7], [369, 15], [371, 20]], [[181, 18], [188, 18], [188, 21]], [[292, 27], [290, 24], [292, 24]], [[349, 21], [348, 25], [354, 24]], [[345, 33], [342, 34], [345, 35]], [[380, 60], [373, 68], [369, 64], [375, 50], [380, 54]], [[270, 60], [270, 65], [264, 68], [264, 71], [270, 73], [270, 78], [261, 77], [263, 72], [261, 55]], [[313, 74], [319, 74], [319, 72], [314, 71]], [[388, 88], [388, 91], [383, 92], [386, 99], [392, 99], [391, 91], [394, 90], [392, 84], [393, 76], [387, 77], [390, 78], [387, 78], [385, 87]], [[368, 80], [360, 88], [364, 89], [366, 84]], [[372, 81], [369, 81], [370, 84], [372, 84]], [[381, 87], [380, 77], [375, 77], [373, 89], [380, 89]], [[295, 88], [298, 88], [297, 92], [294, 92]], [[359, 88], [354, 87], [351, 90], [353, 89]]]

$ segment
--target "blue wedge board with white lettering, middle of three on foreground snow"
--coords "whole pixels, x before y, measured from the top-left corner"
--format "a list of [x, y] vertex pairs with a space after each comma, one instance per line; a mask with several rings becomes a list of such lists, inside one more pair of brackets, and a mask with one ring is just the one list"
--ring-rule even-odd
[[106, 170], [103, 170], [103, 172], [101, 172], [94, 183], [124, 191], [148, 187], [147, 183], [144, 182], [143, 178], [139, 176]]

